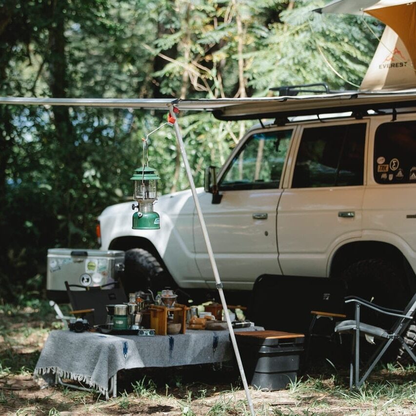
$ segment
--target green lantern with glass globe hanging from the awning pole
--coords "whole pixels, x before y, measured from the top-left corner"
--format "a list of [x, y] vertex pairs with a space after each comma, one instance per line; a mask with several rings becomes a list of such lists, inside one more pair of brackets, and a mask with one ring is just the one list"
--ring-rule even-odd
[[134, 183], [134, 198], [139, 205], [132, 205], [132, 209], [139, 208], [133, 214], [133, 230], [158, 230], [160, 218], [153, 211], [153, 204], [158, 199], [158, 174], [150, 166], [142, 166], [134, 171], [130, 178]]

